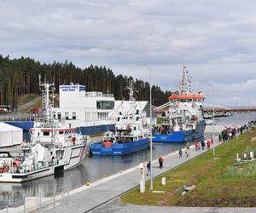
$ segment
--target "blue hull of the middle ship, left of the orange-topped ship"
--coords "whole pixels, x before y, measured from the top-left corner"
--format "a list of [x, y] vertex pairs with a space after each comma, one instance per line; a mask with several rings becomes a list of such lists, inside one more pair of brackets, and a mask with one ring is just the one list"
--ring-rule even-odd
[[93, 156], [124, 155], [146, 149], [148, 146], [148, 138], [125, 143], [113, 143], [112, 147], [103, 147], [102, 143], [92, 143], [90, 144], [90, 153]]

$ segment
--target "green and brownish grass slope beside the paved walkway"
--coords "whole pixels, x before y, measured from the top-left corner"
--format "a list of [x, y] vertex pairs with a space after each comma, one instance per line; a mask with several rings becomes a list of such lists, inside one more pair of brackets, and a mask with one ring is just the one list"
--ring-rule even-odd
[[[189, 160], [175, 170], [162, 175], [166, 186], [161, 186], [162, 176], [154, 179], [154, 190], [165, 193], [151, 193], [149, 182], [146, 193], [139, 188], [121, 196], [124, 203], [175, 206], [256, 206], [256, 160], [246, 164], [236, 164], [236, 153], [254, 151], [256, 135], [244, 133], [236, 139], [216, 147], [216, 157], [212, 150]], [[195, 189], [181, 195], [184, 184], [195, 184]]]

